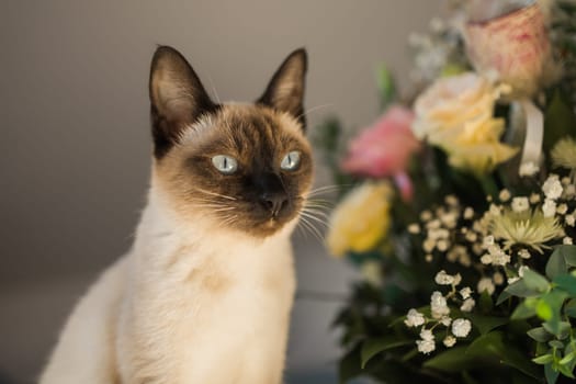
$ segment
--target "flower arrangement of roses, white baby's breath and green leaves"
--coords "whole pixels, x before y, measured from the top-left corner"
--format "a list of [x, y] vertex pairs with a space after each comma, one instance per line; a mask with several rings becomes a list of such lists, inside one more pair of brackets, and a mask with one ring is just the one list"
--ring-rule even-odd
[[[451, 1], [416, 91], [339, 150], [326, 244], [357, 264], [340, 381], [556, 383], [576, 366], [576, 3]], [[492, 43], [490, 43], [492, 42]]]

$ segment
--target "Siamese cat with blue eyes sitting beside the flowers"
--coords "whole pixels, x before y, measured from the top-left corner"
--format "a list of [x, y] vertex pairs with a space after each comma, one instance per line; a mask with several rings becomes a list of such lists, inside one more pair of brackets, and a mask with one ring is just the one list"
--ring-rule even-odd
[[68, 318], [41, 384], [279, 384], [295, 291], [291, 233], [310, 190], [292, 53], [255, 103], [215, 103], [159, 46], [147, 205], [127, 255]]

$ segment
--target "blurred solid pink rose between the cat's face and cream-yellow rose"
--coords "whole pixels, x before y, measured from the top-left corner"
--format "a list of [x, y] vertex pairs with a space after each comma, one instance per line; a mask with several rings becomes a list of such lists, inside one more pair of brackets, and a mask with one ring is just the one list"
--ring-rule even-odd
[[414, 191], [406, 168], [410, 156], [420, 148], [410, 128], [413, 120], [410, 110], [391, 106], [373, 126], [350, 143], [342, 169], [373, 178], [392, 177], [402, 197], [410, 200]]

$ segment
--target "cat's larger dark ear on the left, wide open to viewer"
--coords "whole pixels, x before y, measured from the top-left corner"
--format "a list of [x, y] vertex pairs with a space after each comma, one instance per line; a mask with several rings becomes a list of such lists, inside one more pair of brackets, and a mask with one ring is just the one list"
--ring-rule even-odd
[[216, 109], [187, 59], [169, 46], [159, 46], [154, 54], [149, 93], [157, 158], [170, 149], [184, 127]]

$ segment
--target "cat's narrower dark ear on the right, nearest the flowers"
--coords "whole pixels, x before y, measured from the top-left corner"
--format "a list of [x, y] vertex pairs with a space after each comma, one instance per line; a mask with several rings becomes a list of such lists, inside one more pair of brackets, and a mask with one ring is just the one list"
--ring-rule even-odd
[[306, 70], [306, 50], [304, 48], [294, 50], [276, 70], [258, 102], [292, 114], [304, 126], [303, 103]]

